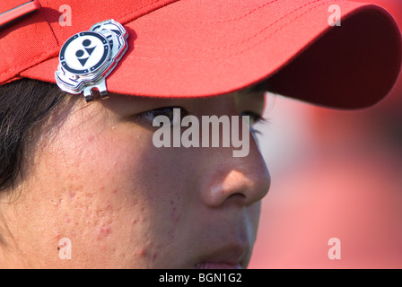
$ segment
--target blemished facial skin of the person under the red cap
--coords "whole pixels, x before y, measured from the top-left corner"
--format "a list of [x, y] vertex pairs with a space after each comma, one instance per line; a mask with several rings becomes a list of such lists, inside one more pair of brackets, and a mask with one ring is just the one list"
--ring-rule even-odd
[[[263, 92], [112, 94], [63, 109], [32, 135], [23, 180], [1, 197], [0, 267], [246, 267], [270, 186], [253, 137], [243, 158], [223, 147], [157, 149], [148, 111], [261, 115], [263, 102]], [[70, 260], [59, 257], [63, 238]]]

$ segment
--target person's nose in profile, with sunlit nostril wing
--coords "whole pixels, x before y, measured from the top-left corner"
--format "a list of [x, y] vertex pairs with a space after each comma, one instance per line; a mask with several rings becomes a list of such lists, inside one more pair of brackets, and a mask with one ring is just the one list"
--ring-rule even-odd
[[[267, 195], [271, 178], [266, 162], [250, 136], [249, 154], [233, 157], [232, 149], [205, 149], [201, 199], [209, 207], [227, 204], [250, 206]], [[205, 161], [206, 160], [206, 161]]]

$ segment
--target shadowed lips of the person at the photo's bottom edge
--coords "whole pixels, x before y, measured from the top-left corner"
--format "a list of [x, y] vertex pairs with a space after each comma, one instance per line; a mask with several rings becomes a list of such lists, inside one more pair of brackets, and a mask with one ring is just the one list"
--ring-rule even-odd
[[233, 243], [227, 244], [220, 248], [214, 248], [199, 257], [196, 264], [214, 263], [214, 264], [227, 264], [238, 265], [245, 267], [249, 255], [249, 244]]

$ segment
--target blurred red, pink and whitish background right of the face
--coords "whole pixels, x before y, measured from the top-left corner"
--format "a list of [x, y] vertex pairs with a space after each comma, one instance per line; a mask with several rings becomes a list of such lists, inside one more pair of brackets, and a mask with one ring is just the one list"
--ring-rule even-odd
[[[402, 0], [357, 1], [402, 29]], [[402, 268], [402, 76], [353, 112], [268, 98], [260, 143], [272, 186], [249, 268]], [[328, 257], [331, 238], [340, 259]]]

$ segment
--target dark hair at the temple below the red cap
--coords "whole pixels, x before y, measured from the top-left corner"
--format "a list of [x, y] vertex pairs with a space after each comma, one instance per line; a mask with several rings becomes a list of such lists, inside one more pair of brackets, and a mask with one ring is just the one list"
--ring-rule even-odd
[[0, 191], [21, 173], [28, 135], [71, 97], [54, 83], [22, 79], [0, 86]]

